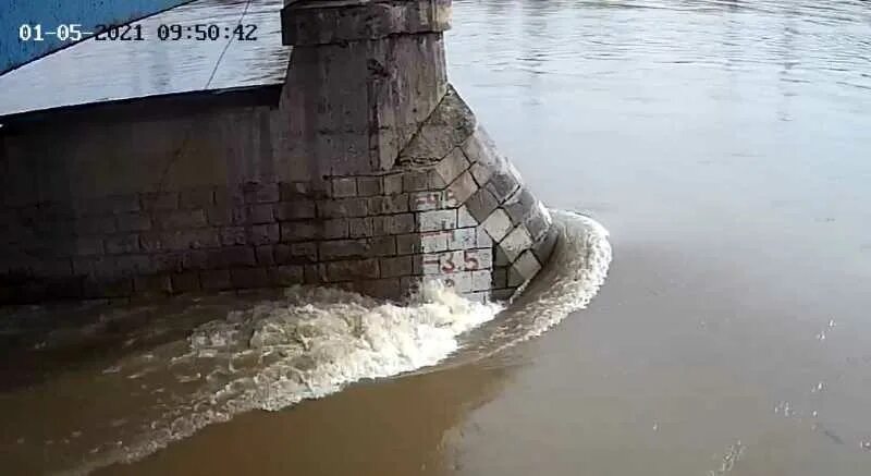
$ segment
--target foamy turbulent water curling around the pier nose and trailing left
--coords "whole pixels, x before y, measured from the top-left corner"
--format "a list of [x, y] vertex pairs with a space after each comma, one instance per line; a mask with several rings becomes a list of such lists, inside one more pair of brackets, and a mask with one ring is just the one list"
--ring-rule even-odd
[[[137, 327], [125, 335], [123, 345], [135, 352], [8, 393], [5, 411], [27, 406], [34, 393], [63, 394], [85, 380], [86, 395], [79, 396], [90, 411], [72, 418], [76, 425], [57, 428], [13, 423], [4, 428], [4, 443], [33, 444], [36, 438], [64, 456], [65, 464], [50, 469], [86, 473], [138, 460], [243, 412], [282, 410], [359, 380], [477, 359], [540, 334], [590, 301], [611, 260], [601, 225], [571, 212], [555, 211], [554, 218], [561, 235], [553, 265], [504, 309], [469, 302], [438, 284], [406, 306], [335, 289], [294, 286], [280, 296], [235, 303], [223, 313], [225, 295], [197, 298], [175, 310], [175, 303], [113, 309], [97, 325], [54, 331], [37, 344], [39, 350], [105, 333], [107, 322], [118, 327], [142, 313], [155, 316], [139, 319], [148, 329]], [[203, 322], [209, 315], [220, 317]], [[180, 333], [197, 322], [186, 335]], [[154, 334], [175, 337], [155, 344]], [[127, 405], [113, 412], [116, 399]]]

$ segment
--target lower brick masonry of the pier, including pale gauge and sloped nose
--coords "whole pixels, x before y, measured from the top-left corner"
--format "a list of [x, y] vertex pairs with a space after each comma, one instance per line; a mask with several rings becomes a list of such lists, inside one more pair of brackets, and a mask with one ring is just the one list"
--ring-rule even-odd
[[0, 301], [295, 283], [401, 300], [430, 280], [504, 300], [555, 242], [548, 210], [452, 88], [390, 171], [323, 179], [3, 208]]

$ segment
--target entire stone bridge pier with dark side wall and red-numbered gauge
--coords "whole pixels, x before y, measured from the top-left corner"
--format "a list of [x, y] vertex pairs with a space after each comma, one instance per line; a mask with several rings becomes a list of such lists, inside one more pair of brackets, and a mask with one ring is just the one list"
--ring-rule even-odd
[[[295, 283], [510, 298], [547, 208], [447, 81], [447, 0], [296, 1], [275, 95], [0, 130], [0, 301]], [[107, 78], [111, 81], [111, 78]]]

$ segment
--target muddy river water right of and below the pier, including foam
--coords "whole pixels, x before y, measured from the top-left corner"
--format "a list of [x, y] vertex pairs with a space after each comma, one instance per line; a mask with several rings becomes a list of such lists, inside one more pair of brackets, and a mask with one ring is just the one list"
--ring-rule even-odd
[[[871, 474], [871, 4], [461, 0], [453, 25], [452, 82], [531, 190], [610, 232], [587, 308], [539, 332], [605, 259], [562, 213], [502, 315], [300, 290], [78, 309], [99, 326], [4, 358], [3, 474]], [[289, 374], [318, 350], [366, 365]]]

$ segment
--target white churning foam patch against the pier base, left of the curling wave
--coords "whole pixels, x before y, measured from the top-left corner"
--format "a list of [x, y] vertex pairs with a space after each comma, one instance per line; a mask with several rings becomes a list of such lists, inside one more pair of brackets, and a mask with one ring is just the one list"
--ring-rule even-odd
[[[457, 350], [457, 335], [501, 310], [439, 283], [427, 284], [408, 306], [323, 288], [295, 286], [285, 294], [198, 327], [185, 352], [170, 359], [180, 401], [150, 423], [150, 431], [109, 450], [88, 469], [140, 459], [241, 412], [281, 410], [361, 379], [436, 365]], [[159, 371], [124, 367], [137, 376]], [[185, 394], [191, 385], [196, 390]]]

